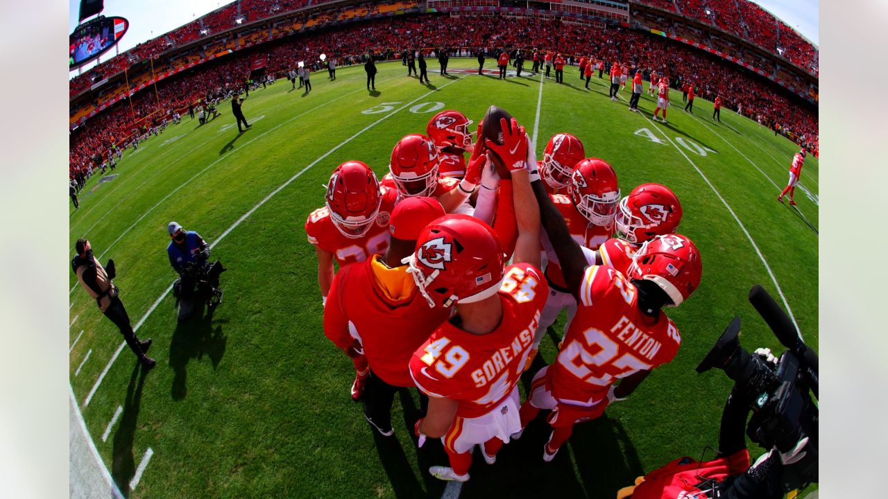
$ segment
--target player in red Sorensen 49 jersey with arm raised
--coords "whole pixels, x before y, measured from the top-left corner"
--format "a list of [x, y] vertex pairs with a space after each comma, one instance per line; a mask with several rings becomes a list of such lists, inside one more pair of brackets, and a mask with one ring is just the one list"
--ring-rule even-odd
[[523, 170], [527, 134], [514, 119], [511, 125], [503, 120], [503, 146], [488, 141], [488, 148], [497, 162], [517, 168], [511, 172], [519, 226], [514, 261], [522, 263], [505, 267], [493, 230], [461, 215], [426, 227], [408, 258], [408, 272], [429, 305], [456, 307], [410, 360], [416, 387], [430, 397], [426, 416], [416, 422], [418, 443], [440, 437], [450, 461], [429, 469], [439, 479], [469, 479], [475, 445], [492, 464], [519, 431], [519, 376], [548, 290], [536, 266], [539, 210]]

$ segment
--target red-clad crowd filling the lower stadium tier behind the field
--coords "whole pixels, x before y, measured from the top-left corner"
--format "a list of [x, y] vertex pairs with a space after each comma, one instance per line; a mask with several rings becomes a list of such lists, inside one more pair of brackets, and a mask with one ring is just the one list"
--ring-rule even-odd
[[[348, 36], [344, 36], [347, 32]], [[305, 36], [281, 43], [262, 44], [254, 49], [235, 52], [162, 80], [157, 95], [147, 89], [132, 98], [91, 118], [71, 136], [72, 173], [86, 167], [90, 152], [109, 148], [139, 128], [143, 133], [163, 123], [174, 109], [182, 110], [210, 91], [231, 90], [250, 77], [250, 59], [266, 57], [266, 74], [285, 75], [297, 62], [320, 68], [317, 57], [326, 53], [338, 59], [338, 65], [363, 62], [365, 54], [375, 59], [392, 59], [402, 49], [424, 47], [463, 47], [451, 50], [452, 55], [474, 56], [480, 48], [499, 53], [501, 48], [522, 49], [529, 60], [535, 50], [559, 51], [574, 63], [582, 55], [617, 61], [632, 68], [641, 68], [646, 77], [650, 71], [670, 77], [673, 87], [694, 83], [697, 95], [714, 99], [720, 95], [725, 107], [737, 109], [753, 119], [761, 115], [770, 127], [792, 131], [809, 141], [817, 137], [817, 116], [797, 99], [790, 100], [786, 91], [775, 91], [774, 84], [764, 78], [740, 70], [733, 63], [684, 44], [622, 29], [600, 29], [559, 20], [541, 18], [507, 18], [425, 15], [399, 17], [385, 21], [368, 21]], [[396, 51], [395, 49], [398, 49]], [[158, 101], [159, 97], [159, 101]], [[157, 111], [162, 112], [158, 113]], [[138, 123], [151, 116], [151, 123]]]

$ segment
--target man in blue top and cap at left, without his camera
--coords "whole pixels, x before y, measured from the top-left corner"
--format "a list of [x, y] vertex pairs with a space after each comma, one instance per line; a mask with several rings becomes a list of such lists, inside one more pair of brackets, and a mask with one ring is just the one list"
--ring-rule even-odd
[[184, 321], [191, 316], [194, 309], [194, 275], [186, 272], [188, 266], [201, 268], [210, 258], [210, 245], [203, 241], [201, 234], [186, 231], [178, 222], [170, 222], [167, 226], [170, 233], [170, 244], [167, 255], [170, 265], [178, 273], [178, 280], [173, 284], [173, 293], [178, 297], [178, 320]]

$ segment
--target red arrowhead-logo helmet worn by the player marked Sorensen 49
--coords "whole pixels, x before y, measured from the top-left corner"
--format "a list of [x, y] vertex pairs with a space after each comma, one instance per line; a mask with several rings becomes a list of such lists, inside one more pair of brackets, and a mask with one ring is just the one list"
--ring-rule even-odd
[[503, 281], [503, 248], [493, 229], [466, 215], [445, 215], [426, 226], [403, 262], [432, 308], [492, 297]]

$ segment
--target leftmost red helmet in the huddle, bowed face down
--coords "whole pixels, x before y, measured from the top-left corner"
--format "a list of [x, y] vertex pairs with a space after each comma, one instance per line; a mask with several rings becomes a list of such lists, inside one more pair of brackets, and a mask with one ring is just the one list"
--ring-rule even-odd
[[345, 237], [357, 239], [376, 221], [383, 198], [373, 170], [363, 162], [349, 161], [333, 171], [325, 201], [333, 225]]

